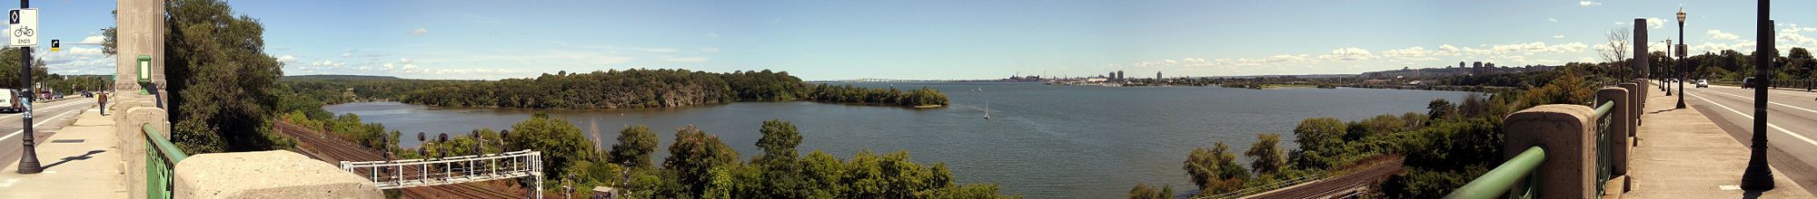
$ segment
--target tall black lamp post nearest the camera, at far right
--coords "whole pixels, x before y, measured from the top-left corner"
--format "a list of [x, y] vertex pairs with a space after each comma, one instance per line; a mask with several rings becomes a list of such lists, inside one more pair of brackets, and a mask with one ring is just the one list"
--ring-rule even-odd
[[1773, 65], [1773, 20], [1770, 20], [1768, 9], [1770, 0], [1759, 0], [1753, 18], [1753, 147], [1748, 154], [1748, 170], [1741, 174], [1741, 190], [1766, 192], [1773, 190], [1773, 170], [1766, 163], [1766, 87], [1764, 81], [1773, 81], [1768, 76]]

